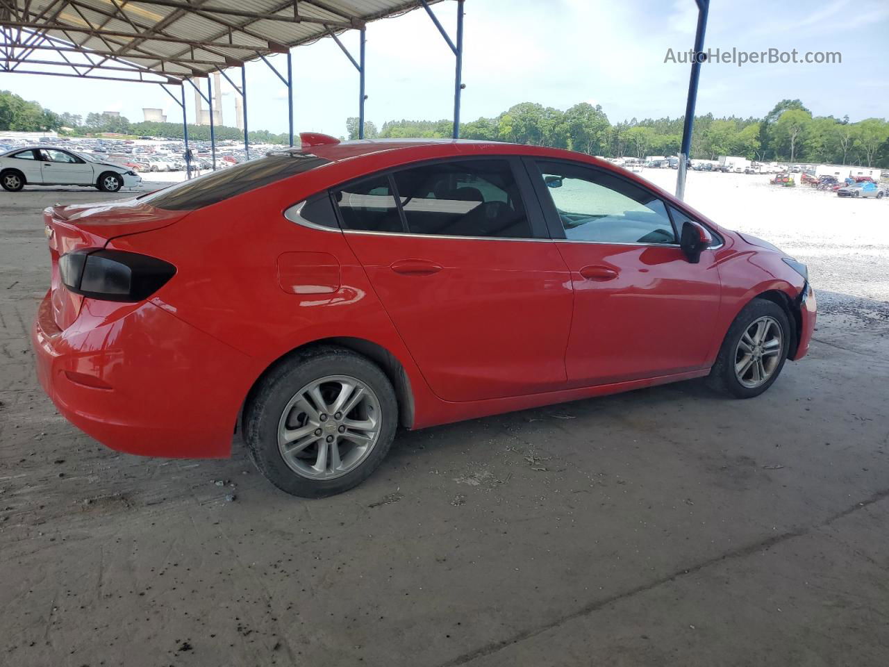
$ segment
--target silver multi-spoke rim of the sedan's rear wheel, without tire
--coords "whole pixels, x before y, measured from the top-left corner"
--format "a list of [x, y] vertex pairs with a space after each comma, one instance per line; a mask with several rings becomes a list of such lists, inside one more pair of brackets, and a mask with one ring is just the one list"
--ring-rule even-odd
[[380, 400], [349, 375], [326, 375], [297, 391], [278, 421], [278, 451], [301, 477], [333, 479], [355, 470], [380, 439]]

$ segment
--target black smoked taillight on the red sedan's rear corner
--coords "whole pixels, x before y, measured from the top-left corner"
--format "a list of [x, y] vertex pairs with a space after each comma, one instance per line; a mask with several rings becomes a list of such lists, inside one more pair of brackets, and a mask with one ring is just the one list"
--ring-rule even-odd
[[170, 262], [139, 253], [87, 248], [59, 258], [71, 292], [102, 301], [144, 301], [176, 273]]

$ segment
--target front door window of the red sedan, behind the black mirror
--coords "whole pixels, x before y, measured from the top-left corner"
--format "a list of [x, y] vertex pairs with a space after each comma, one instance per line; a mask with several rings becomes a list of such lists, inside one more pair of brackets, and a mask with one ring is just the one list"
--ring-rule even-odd
[[581, 165], [539, 166], [569, 241], [677, 243], [667, 209], [652, 192]]

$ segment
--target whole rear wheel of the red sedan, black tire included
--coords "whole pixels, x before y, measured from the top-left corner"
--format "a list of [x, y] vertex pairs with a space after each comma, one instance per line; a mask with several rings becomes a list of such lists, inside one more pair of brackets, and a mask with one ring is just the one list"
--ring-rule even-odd
[[[336, 399], [349, 384], [346, 410], [337, 412]], [[324, 401], [320, 409], [314, 387]], [[349, 407], [359, 388], [356, 406]], [[341, 494], [363, 482], [386, 457], [397, 424], [395, 390], [380, 367], [331, 346], [298, 352], [274, 367], [244, 409], [244, 439], [256, 467], [282, 491], [303, 498]]]

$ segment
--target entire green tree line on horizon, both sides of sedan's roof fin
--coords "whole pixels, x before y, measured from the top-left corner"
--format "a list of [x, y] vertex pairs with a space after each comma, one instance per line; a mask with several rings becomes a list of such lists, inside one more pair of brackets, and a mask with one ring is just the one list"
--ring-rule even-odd
[[[461, 137], [577, 150], [604, 157], [645, 157], [677, 155], [682, 141], [683, 117], [643, 118], [612, 124], [601, 105], [587, 102], [562, 111], [534, 102], [522, 102], [499, 116], [482, 117], [461, 124]], [[450, 120], [393, 120], [379, 129], [364, 124], [367, 139], [408, 137], [449, 137]], [[84, 136], [120, 133], [133, 136], [160, 136], [181, 139], [180, 123], [131, 123], [126, 117], [91, 113], [85, 118], [56, 114], [36, 102], [28, 102], [8, 91], [0, 91], [0, 130], [60, 133]], [[358, 136], [358, 119], [346, 121], [348, 139]], [[188, 136], [196, 141], [210, 140], [208, 125], [188, 125]], [[243, 130], [225, 125], [216, 127], [220, 140], [241, 141]], [[286, 133], [254, 130], [249, 141], [286, 144]], [[713, 117], [694, 119], [691, 157], [716, 159], [720, 155], [747, 157], [760, 162], [823, 162], [859, 164], [889, 168], [889, 123], [868, 118], [850, 123], [848, 117], [813, 117], [800, 100], [781, 100], [762, 118]]]

